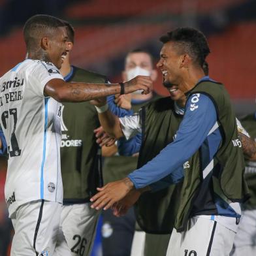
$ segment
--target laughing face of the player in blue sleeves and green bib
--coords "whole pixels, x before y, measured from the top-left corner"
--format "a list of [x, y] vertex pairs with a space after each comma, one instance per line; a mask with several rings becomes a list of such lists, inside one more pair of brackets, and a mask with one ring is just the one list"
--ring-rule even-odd
[[157, 67], [163, 74], [163, 85], [167, 88], [172, 87], [174, 84], [178, 85], [181, 76], [180, 62], [182, 55], [178, 54], [174, 44], [175, 42], [167, 42], [163, 45], [160, 59], [157, 63]]

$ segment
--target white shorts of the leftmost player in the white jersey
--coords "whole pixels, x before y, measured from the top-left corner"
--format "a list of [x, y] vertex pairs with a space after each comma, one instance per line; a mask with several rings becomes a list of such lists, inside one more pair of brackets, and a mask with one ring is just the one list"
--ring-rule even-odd
[[60, 216], [59, 202], [38, 200], [20, 206], [12, 214], [15, 234], [10, 255], [53, 255]]

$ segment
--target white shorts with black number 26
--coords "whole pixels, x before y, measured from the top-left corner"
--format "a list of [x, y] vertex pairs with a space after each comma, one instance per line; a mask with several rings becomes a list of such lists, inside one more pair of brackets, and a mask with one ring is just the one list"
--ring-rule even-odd
[[89, 203], [64, 205], [54, 255], [89, 255], [98, 219], [99, 211]]

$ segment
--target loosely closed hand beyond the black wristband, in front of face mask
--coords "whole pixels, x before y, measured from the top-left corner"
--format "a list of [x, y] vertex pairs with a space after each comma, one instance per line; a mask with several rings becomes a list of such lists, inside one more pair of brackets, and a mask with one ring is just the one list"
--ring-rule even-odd
[[125, 86], [125, 94], [132, 93], [142, 89], [142, 94], [148, 94], [152, 91], [152, 80], [150, 76], [136, 76], [135, 78], [123, 83]]

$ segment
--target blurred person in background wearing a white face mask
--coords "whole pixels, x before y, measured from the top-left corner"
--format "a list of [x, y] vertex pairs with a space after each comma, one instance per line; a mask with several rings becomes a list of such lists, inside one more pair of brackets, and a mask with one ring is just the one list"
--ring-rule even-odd
[[[124, 81], [127, 81], [138, 74], [150, 76], [153, 81], [157, 78], [157, 71], [153, 69], [152, 56], [148, 52], [140, 49], [133, 50], [127, 54], [125, 58], [125, 70], [122, 72], [122, 77]], [[142, 105], [152, 101], [156, 97], [157, 95], [153, 93], [144, 95], [140, 90], [131, 93], [133, 112], [137, 112]], [[119, 100], [117, 99], [117, 101]], [[105, 150], [106, 148], [103, 147], [103, 155]], [[117, 152], [117, 148], [111, 151]], [[119, 155], [105, 157], [103, 165], [104, 184], [124, 178], [131, 170], [136, 168], [137, 161], [137, 154], [129, 157]], [[119, 218], [113, 216], [111, 210], [104, 211], [101, 231], [103, 255], [130, 255], [134, 232], [135, 215], [133, 209], [130, 209], [125, 216]]]

